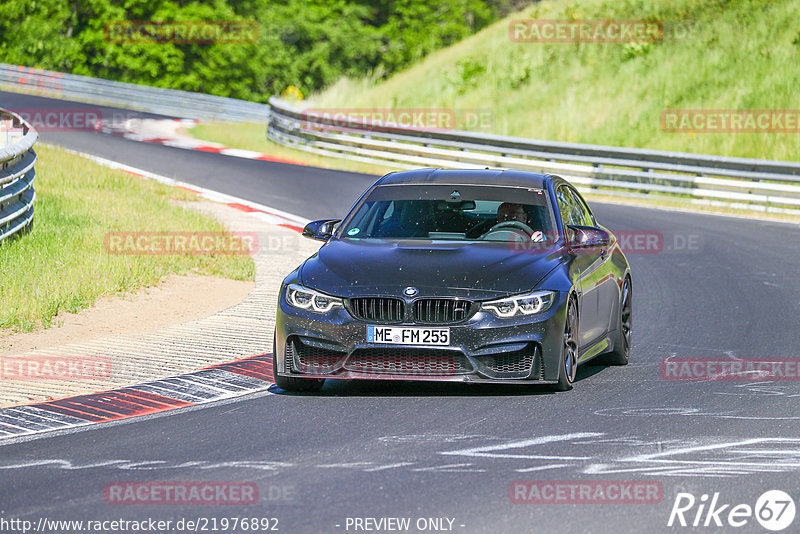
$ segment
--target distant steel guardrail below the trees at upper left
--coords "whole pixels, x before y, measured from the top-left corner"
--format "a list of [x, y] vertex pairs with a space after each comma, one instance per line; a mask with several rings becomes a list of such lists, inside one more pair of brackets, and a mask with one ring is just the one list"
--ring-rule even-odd
[[269, 116], [266, 104], [6, 63], [0, 63], [0, 87], [187, 119], [263, 124]]

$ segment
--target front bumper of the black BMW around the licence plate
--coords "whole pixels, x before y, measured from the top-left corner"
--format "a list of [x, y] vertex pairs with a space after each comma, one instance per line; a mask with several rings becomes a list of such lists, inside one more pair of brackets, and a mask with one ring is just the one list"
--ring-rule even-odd
[[[345, 308], [319, 314], [294, 308], [281, 288], [274, 373], [337, 380], [413, 380], [514, 384], [558, 381], [567, 295], [546, 311], [510, 319], [478, 311], [466, 322], [442, 325], [449, 346], [368, 343], [367, 325]], [[392, 325], [425, 326], [437, 325]]]

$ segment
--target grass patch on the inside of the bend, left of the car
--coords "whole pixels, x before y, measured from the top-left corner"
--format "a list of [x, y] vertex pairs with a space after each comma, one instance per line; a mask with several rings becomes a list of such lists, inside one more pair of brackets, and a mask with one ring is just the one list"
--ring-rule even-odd
[[99, 297], [152, 285], [170, 273], [251, 280], [237, 255], [109, 255], [107, 232], [224, 231], [217, 221], [176, 206], [190, 193], [101, 167], [49, 146], [37, 148], [34, 229], [0, 243], [0, 328], [50, 326]]

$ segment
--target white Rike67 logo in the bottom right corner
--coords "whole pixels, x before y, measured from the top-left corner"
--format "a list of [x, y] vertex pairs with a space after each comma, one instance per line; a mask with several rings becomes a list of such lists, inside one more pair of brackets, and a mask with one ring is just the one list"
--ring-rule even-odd
[[795, 504], [792, 497], [781, 490], [769, 490], [761, 494], [755, 506], [729, 504], [720, 500], [719, 492], [709, 499], [704, 493], [696, 498], [691, 493], [678, 493], [669, 514], [667, 526], [695, 527], [743, 527], [753, 532], [753, 519], [763, 528], [779, 532], [794, 522]]

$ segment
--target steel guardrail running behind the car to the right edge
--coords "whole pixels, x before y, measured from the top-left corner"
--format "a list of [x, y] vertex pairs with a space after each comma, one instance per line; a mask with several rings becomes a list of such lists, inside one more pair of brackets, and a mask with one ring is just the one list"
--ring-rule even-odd
[[270, 99], [268, 137], [325, 156], [398, 168], [493, 167], [563, 176], [612, 196], [800, 214], [800, 163], [504, 137], [308, 113]]

